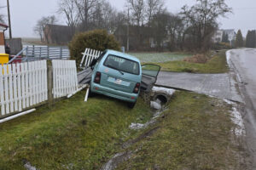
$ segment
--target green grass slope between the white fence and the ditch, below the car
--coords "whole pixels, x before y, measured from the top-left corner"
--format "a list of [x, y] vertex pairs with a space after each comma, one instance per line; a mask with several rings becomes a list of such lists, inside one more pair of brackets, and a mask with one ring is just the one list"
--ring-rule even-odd
[[23, 169], [23, 160], [42, 170], [99, 169], [131, 138], [131, 122], [151, 116], [141, 99], [131, 110], [103, 96], [84, 103], [82, 92], [0, 125], [0, 169]]

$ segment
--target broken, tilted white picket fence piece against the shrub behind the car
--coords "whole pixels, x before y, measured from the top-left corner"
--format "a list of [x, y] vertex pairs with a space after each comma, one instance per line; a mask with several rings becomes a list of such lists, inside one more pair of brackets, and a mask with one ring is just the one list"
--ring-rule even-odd
[[97, 59], [102, 54], [102, 51], [85, 48], [85, 51], [82, 54], [83, 54], [83, 58], [81, 60], [79, 67], [81, 69], [84, 69], [84, 68], [87, 68], [88, 66], [90, 66], [91, 61], [93, 59]]

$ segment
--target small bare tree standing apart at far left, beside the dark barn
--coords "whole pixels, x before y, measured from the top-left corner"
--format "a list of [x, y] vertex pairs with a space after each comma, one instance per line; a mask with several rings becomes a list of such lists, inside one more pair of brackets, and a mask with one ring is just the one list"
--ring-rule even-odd
[[46, 42], [49, 43], [49, 31], [46, 31], [45, 28], [47, 25], [51, 24], [55, 24], [57, 22], [57, 19], [55, 17], [55, 15], [51, 15], [48, 17], [42, 17], [40, 20], [38, 20], [37, 25], [34, 27], [34, 32], [36, 34], [38, 34], [38, 36], [41, 39], [41, 42], [44, 41], [44, 37], [46, 39]]

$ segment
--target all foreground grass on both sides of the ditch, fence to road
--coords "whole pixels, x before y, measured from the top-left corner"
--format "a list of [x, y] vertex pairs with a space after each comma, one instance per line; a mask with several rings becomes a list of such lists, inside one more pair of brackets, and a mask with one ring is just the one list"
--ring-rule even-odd
[[177, 92], [153, 124], [133, 130], [154, 116], [142, 99], [131, 110], [84, 93], [1, 124], [0, 169], [100, 169], [114, 156], [124, 160], [117, 169], [243, 169], [232, 105], [221, 99]]

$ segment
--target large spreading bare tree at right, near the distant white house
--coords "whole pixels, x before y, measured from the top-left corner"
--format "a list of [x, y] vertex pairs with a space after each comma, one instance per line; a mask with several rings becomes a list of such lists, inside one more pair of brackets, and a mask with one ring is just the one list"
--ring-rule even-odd
[[181, 14], [189, 20], [189, 32], [195, 42], [195, 48], [207, 50], [212, 35], [218, 28], [218, 18], [231, 12], [224, 0], [196, 0], [194, 6], [183, 6]]

